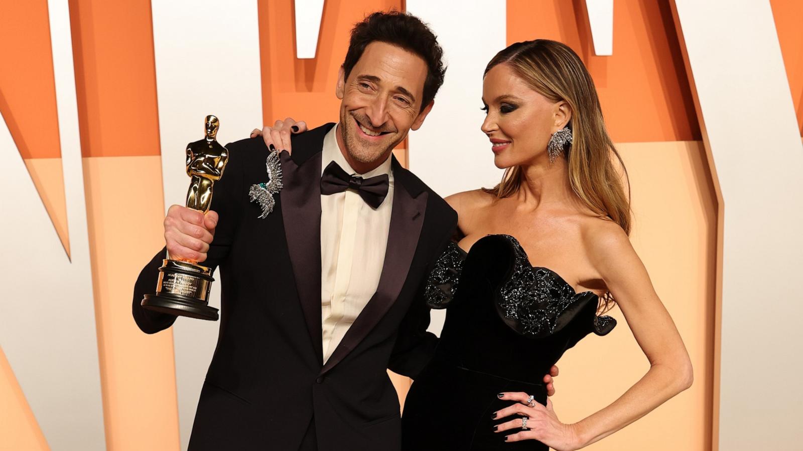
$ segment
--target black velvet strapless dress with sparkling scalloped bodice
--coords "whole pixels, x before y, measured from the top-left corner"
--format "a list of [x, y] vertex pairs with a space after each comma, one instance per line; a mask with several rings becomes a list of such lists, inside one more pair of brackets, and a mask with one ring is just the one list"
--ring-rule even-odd
[[402, 449], [548, 450], [539, 441], [506, 443], [491, 413], [512, 404], [499, 392], [527, 392], [546, 405], [542, 383], [560, 356], [616, 321], [597, 316], [597, 295], [575, 293], [560, 275], [530, 266], [516, 238], [488, 235], [466, 254], [442, 254], [426, 290], [446, 308], [435, 356], [410, 388], [402, 415]]

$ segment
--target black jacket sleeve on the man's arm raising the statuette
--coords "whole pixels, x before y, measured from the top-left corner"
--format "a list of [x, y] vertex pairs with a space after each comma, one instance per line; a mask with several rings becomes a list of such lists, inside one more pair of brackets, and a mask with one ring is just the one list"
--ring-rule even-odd
[[[218, 213], [218, 225], [215, 227], [214, 239], [210, 244], [210, 249], [206, 253], [206, 260], [200, 264], [209, 267], [213, 274], [214, 270], [229, 253], [231, 243], [234, 241], [234, 236], [237, 232], [240, 214], [242, 213], [242, 202], [243, 200], [247, 201], [247, 191], [243, 190], [242, 160], [246, 156], [243, 154], [254, 151], [250, 148], [251, 146], [247, 145], [249, 141], [251, 140], [241, 140], [226, 144], [226, 148], [229, 150], [229, 161], [223, 171], [223, 176], [214, 183], [212, 188], [212, 205], [210, 205], [210, 209]], [[166, 255], [166, 248], [162, 248], [141, 270], [137, 277], [137, 282], [134, 284], [132, 315], [137, 326], [146, 334], [163, 331], [176, 321], [175, 315], [149, 311], [141, 306], [145, 295], [151, 295], [156, 292], [159, 268], [162, 265], [162, 260], [167, 258]]]

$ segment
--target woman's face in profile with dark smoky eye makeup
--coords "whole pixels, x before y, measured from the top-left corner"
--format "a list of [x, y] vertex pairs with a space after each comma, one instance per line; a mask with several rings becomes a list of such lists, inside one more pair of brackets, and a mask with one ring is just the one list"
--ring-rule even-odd
[[482, 130], [491, 140], [497, 168], [548, 160], [549, 138], [570, 119], [565, 101], [544, 97], [505, 63], [485, 75], [483, 107], [487, 116]]

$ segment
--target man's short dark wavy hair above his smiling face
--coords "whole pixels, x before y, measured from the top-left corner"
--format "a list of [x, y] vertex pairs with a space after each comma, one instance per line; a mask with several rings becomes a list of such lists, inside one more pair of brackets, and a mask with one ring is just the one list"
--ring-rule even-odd
[[429, 26], [412, 14], [398, 11], [377, 12], [369, 15], [352, 29], [349, 51], [343, 62], [345, 78], [349, 78], [354, 65], [365, 47], [373, 42], [389, 43], [420, 56], [429, 69], [424, 82], [424, 94], [419, 111], [429, 105], [443, 84], [446, 67], [443, 66], [443, 49]]

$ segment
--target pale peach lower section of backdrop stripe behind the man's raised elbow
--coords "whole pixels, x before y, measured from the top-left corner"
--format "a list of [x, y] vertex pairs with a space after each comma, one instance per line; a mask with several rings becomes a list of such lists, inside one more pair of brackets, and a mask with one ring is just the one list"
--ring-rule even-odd
[[[136, 195], [126, 172], [141, 174]], [[146, 335], [131, 317], [137, 275], [165, 243], [161, 157], [84, 158], [84, 179], [107, 448], [177, 450], [173, 331]]]

